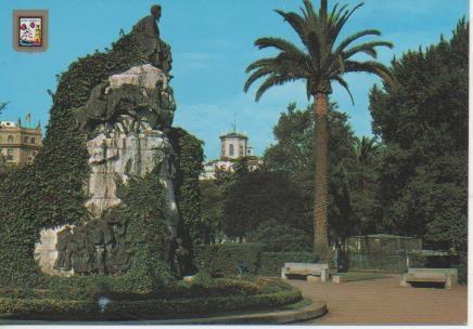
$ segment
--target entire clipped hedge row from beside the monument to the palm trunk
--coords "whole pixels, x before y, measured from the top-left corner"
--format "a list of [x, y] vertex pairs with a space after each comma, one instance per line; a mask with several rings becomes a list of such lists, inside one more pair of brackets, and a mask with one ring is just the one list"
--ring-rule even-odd
[[246, 274], [280, 276], [286, 262], [316, 263], [310, 252], [265, 252], [261, 244], [222, 244], [201, 246], [195, 250], [195, 265], [213, 277], [237, 276], [237, 267], [245, 263]]

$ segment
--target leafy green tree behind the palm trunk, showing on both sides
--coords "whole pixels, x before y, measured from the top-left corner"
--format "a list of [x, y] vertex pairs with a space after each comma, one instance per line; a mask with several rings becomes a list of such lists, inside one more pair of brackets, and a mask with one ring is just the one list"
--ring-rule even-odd
[[[351, 181], [356, 171], [351, 171], [355, 161], [353, 143], [355, 137], [345, 114], [335, 110], [331, 104], [329, 110], [329, 236], [333, 244], [340, 245], [349, 232], [354, 232], [354, 214], [351, 207]], [[284, 172], [290, 175], [293, 189], [299, 197], [294, 199], [296, 207], [302, 209], [302, 223], [307, 223], [304, 229], [311, 231], [314, 213], [314, 121], [315, 116], [309, 105], [307, 109], [296, 109], [294, 104], [287, 111], [281, 114], [274, 127], [277, 143], [271, 145], [264, 156], [266, 169], [270, 172]], [[356, 186], [356, 185], [354, 185]], [[302, 227], [302, 226], [298, 226]]]

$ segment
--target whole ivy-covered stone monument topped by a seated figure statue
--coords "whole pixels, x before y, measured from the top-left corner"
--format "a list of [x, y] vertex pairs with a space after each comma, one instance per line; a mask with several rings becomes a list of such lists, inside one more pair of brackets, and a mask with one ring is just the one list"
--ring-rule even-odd
[[98, 274], [142, 291], [191, 269], [203, 150], [171, 126], [161, 11], [59, 76], [43, 149], [0, 184], [0, 285]]

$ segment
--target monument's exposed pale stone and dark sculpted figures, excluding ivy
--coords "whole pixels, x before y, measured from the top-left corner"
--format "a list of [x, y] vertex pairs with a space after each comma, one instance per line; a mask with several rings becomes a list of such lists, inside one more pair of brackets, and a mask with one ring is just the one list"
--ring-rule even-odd
[[[154, 5], [151, 13], [133, 27], [150, 63], [110, 76], [92, 88], [84, 106], [72, 109], [78, 129], [88, 136], [91, 173], [85, 186], [85, 206], [89, 218], [73, 228], [41, 232], [42, 245], [37, 246], [37, 254], [40, 266], [51, 274], [115, 274], [129, 268], [127, 227], [115, 214], [122, 202], [116, 196], [115, 180], [118, 176], [126, 184], [130, 176], [143, 176], [156, 167], [166, 198], [168, 240], [174, 241], [170, 265], [178, 274], [181, 272], [179, 262], [187, 251], [178, 238], [179, 213], [172, 184], [175, 153], [166, 135], [176, 110], [168, 83], [171, 55], [156, 24], [161, 6]], [[54, 234], [57, 258], [51, 266], [51, 254], [41, 252], [50, 252]]]

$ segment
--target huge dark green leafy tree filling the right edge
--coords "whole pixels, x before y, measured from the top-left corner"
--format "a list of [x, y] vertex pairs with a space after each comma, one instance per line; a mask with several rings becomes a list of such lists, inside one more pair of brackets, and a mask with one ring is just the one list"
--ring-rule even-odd
[[385, 144], [378, 194], [384, 229], [460, 255], [468, 246], [468, 50], [463, 18], [450, 41], [393, 61], [398, 88], [370, 93], [373, 131]]

